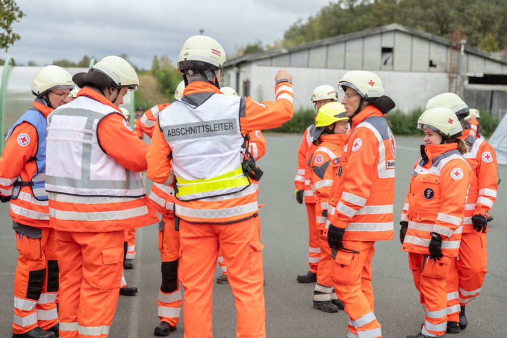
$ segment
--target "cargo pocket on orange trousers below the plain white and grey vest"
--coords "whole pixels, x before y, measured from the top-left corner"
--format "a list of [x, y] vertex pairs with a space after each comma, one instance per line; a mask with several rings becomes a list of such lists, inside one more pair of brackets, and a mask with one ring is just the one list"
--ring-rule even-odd
[[102, 267], [97, 287], [100, 290], [112, 290], [120, 287], [123, 267], [123, 248], [102, 250]]

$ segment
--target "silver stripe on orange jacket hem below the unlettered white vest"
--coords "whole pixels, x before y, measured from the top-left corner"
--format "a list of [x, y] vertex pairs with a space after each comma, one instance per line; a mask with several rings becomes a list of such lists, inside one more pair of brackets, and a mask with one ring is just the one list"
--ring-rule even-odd
[[111, 221], [148, 215], [148, 208], [142, 206], [127, 210], [99, 211], [93, 213], [63, 211], [49, 208], [49, 214], [56, 219], [68, 221]]

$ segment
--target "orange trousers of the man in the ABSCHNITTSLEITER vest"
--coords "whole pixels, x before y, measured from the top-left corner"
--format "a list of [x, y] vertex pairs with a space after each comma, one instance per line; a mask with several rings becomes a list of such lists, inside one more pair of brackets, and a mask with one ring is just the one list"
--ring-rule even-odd
[[263, 245], [255, 217], [227, 225], [179, 221], [180, 280], [185, 289], [185, 337], [212, 337], [213, 277], [219, 247], [227, 262], [228, 278], [236, 298], [236, 336], [266, 336]]

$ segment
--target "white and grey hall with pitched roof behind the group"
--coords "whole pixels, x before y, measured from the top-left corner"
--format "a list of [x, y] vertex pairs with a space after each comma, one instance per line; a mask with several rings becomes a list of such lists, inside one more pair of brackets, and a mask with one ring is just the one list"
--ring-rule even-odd
[[256, 100], [273, 99], [273, 78], [283, 68], [293, 75], [298, 110], [313, 107], [310, 97], [316, 86], [337, 87], [347, 71], [366, 70], [380, 76], [386, 94], [404, 112], [424, 108], [434, 95], [458, 92], [458, 79], [470, 107], [506, 110], [507, 60], [469, 47], [461, 56], [459, 49], [459, 41], [393, 23], [229, 60], [222, 85]]

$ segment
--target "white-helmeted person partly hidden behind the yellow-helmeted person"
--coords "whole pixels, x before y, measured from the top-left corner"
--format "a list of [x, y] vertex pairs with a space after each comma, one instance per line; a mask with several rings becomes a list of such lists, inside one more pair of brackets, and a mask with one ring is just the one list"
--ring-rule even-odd
[[[312, 103], [315, 107], [315, 114], [323, 105], [336, 102], [338, 93], [330, 85], [321, 85], [313, 90]], [[299, 283], [314, 283], [317, 281], [317, 267], [320, 260], [319, 231], [315, 225], [315, 196], [311, 189], [309, 159], [315, 150], [313, 145], [313, 132], [315, 124], [305, 129], [303, 139], [298, 148], [298, 173], [294, 179], [296, 187], [296, 200], [299, 204], [306, 205], [308, 216], [308, 265], [310, 269], [306, 274], [298, 275]]]

